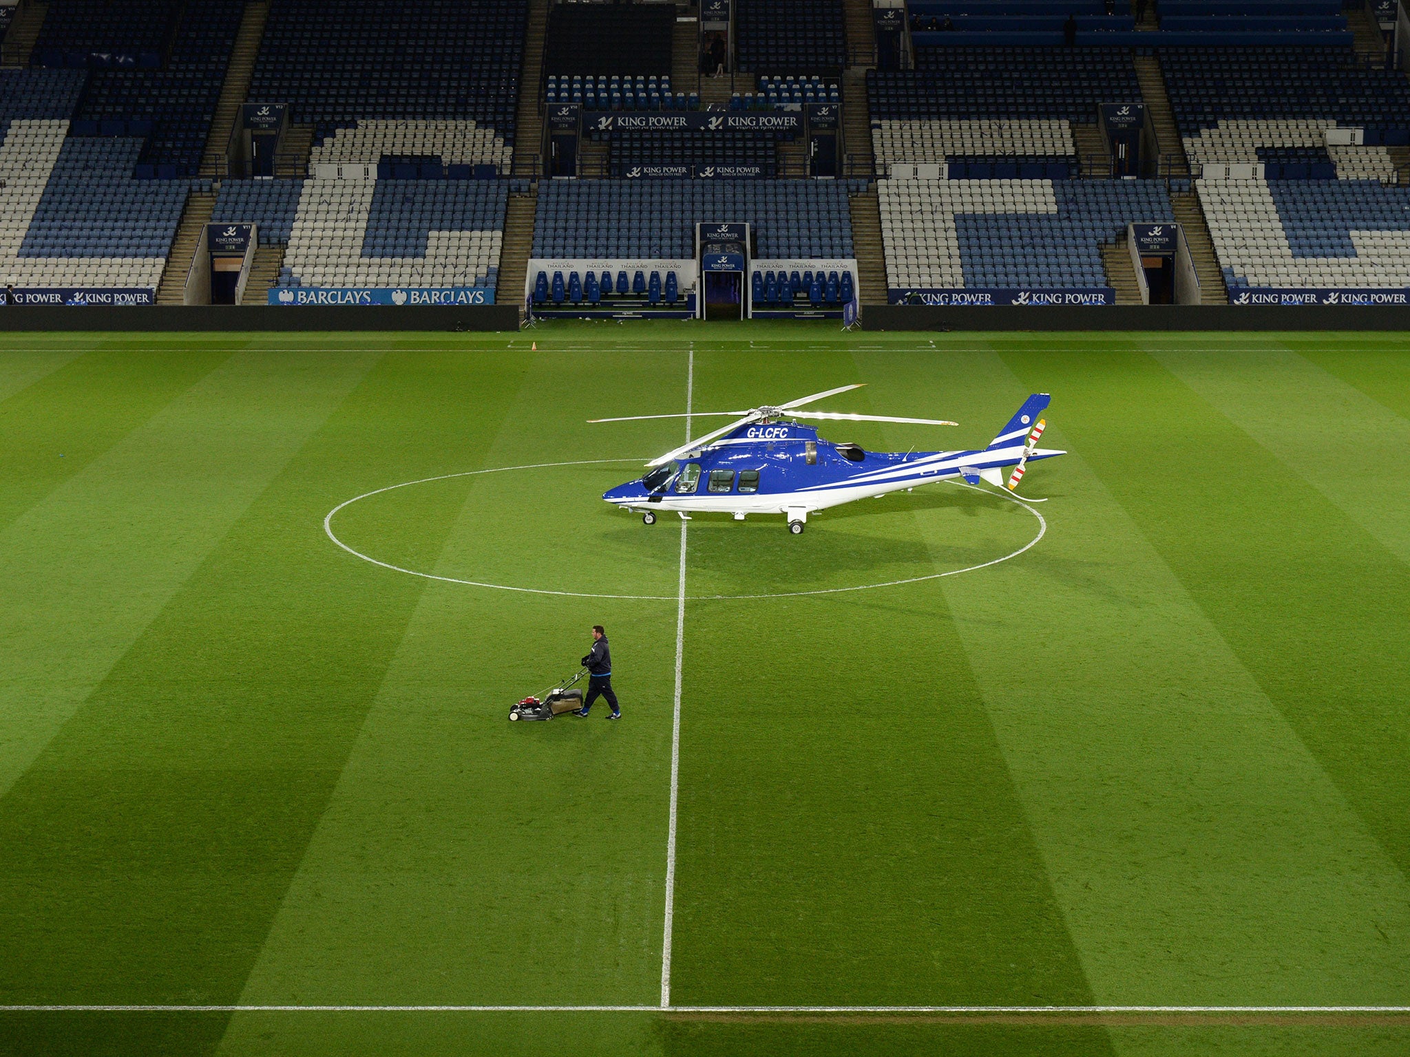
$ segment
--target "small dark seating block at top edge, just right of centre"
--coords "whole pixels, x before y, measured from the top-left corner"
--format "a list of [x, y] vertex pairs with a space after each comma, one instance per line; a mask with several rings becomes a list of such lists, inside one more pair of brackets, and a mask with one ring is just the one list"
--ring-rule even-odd
[[739, 69], [825, 73], [847, 62], [842, 0], [737, 0]]

